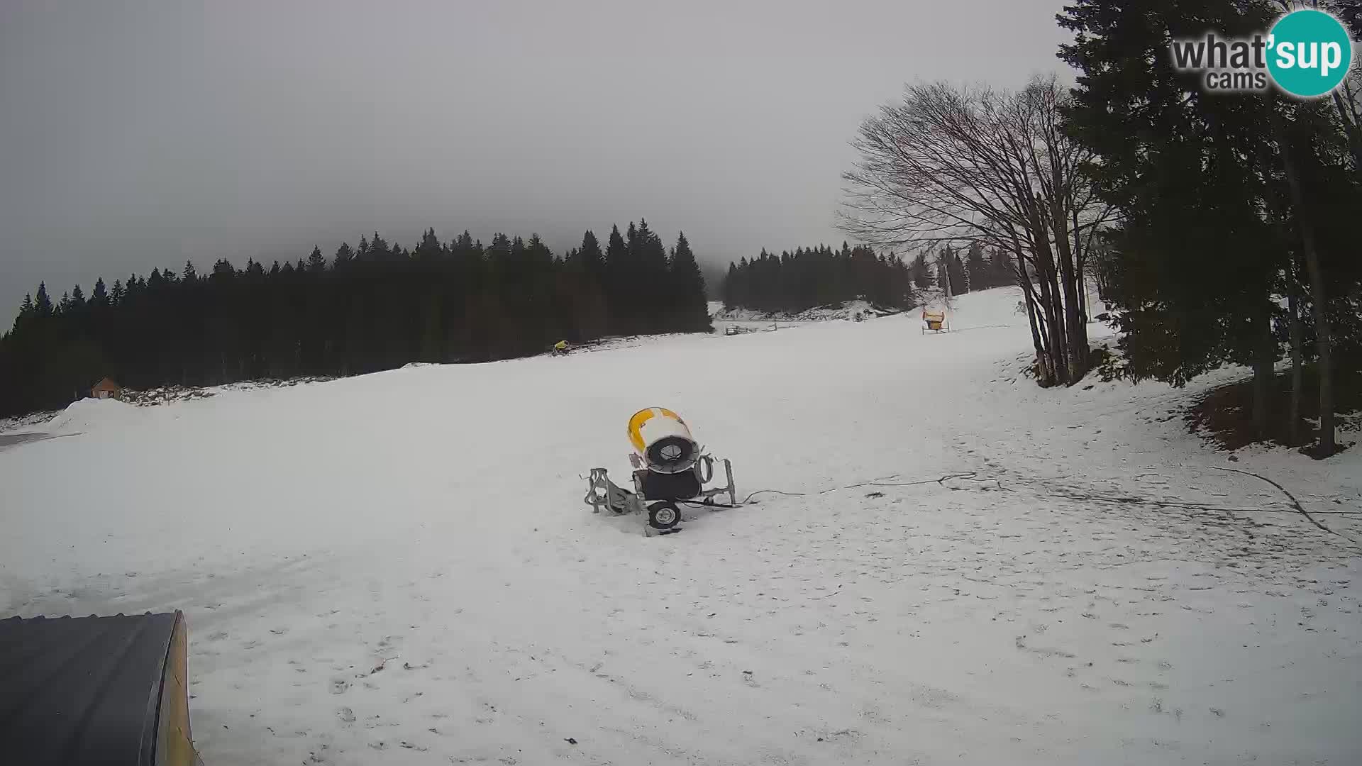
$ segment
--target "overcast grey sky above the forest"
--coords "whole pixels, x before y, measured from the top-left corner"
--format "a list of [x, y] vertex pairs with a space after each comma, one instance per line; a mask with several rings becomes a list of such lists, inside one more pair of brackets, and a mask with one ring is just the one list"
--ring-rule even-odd
[[39, 279], [375, 229], [840, 241], [861, 117], [913, 79], [1062, 70], [1062, 4], [0, 0], [3, 326]]

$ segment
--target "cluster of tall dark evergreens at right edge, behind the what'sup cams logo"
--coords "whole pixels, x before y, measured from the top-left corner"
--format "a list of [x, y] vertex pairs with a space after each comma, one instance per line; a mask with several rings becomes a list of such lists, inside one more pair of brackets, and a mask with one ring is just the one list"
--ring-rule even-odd
[[[1068, 129], [1100, 158], [1098, 188], [1122, 213], [1103, 281], [1122, 309], [1130, 372], [1181, 386], [1224, 363], [1252, 365], [1260, 436], [1291, 323], [1283, 294], [1314, 312], [1321, 414], [1332, 420], [1328, 319], [1359, 278], [1339, 225], [1358, 204], [1350, 142], [1328, 102], [1201, 93], [1173, 68], [1167, 41], [1207, 29], [1248, 37], [1276, 12], [1237, 0], [1075, 0], [1060, 16], [1077, 33], [1061, 57], [1081, 72]], [[1321, 432], [1327, 454], [1329, 423]]]

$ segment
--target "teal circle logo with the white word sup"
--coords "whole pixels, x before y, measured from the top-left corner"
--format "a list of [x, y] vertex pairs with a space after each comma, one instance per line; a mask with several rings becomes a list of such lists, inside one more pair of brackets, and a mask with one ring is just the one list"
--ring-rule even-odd
[[1324, 11], [1291, 11], [1268, 34], [1268, 74], [1291, 95], [1325, 95], [1352, 65], [1348, 30]]

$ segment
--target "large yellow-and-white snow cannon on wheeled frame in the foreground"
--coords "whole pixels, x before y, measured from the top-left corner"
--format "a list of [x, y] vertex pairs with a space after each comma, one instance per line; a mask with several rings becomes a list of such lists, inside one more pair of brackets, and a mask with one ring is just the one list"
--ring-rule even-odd
[[[591, 469], [584, 497], [591, 512], [598, 514], [602, 508], [617, 515], [647, 512], [648, 522], [643, 532], [651, 537], [681, 532], [677, 529], [681, 523], [681, 503], [712, 508], [738, 504], [733, 489], [733, 465], [706, 453], [677, 413], [665, 408], [633, 413], [629, 418], [629, 444], [633, 446], [629, 455], [633, 491], [610, 481], [606, 469]], [[715, 462], [723, 463], [726, 484], [706, 489], [706, 484], [714, 481]], [[727, 504], [715, 503], [719, 495], [729, 496]]]

